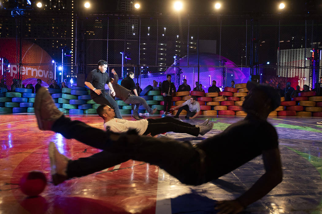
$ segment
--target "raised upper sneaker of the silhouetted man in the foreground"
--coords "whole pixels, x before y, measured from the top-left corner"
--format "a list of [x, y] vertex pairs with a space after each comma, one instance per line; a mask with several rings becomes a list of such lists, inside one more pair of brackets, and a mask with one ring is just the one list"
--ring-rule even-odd
[[63, 115], [55, 106], [48, 89], [44, 87], [37, 91], [34, 109], [40, 130], [52, 130], [52, 124]]

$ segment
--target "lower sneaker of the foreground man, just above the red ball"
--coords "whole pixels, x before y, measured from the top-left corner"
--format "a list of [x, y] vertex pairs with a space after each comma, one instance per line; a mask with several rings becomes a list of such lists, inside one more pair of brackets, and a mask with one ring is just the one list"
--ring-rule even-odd
[[50, 159], [52, 182], [54, 183], [54, 185], [57, 185], [68, 179], [66, 169], [68, 161], [70, 159], [64, 156], [63, 154], [59, 153], [54, 142], [49, 143], [48, 152]]

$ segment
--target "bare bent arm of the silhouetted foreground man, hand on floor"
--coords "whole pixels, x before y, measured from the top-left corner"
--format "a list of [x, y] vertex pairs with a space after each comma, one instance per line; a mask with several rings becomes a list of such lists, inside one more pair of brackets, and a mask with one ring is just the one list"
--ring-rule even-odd
[[[227, 210], [230, 207], [230, 210], [233, 209], [232, 204], [235, 201], [238, 201], [240, 205], [244, 208], [249, 204], [259, 200], [269, 193], [277, 184], [282, 182], [282, 167], [279, 155], [279, 149], [271, 149], [263, 151], [263, 161], [265, 167], [265, 174], [256, 181], [256, 183], [242, 194], [239, 198], [232, 201], [219, 201], [216, 209]], [[236, 206], [237, 207], [237, 206]], [[225, 209], [226, 208], [226, 209]], [[236, 208], [237, 209], [237, 208]], [[233, 212], [232, 210], [231, 212]], [[221, 213], [220, 211], [218, 213]]]

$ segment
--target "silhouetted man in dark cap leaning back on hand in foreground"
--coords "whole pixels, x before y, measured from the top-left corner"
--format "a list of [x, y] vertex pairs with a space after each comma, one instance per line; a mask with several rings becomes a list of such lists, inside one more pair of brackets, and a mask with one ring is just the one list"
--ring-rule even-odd
[[[87, 158], [70, 160], [51, 142], [53, 183], [57, 185], [134, 159], [157, 165], [184, 184], [199, 185], [262, 155], [266, 172], [237, 199], [218, 201], [215, 207], [218, 213], [238, 213], [282, 181], [277, 133], [266, 121], [269, 113], [279, 106], [280, 96], [275, 89], [252, 82], [247, 83], [247, 89], [250, 92], [242, 106], [247, 112], [244, 120], [195, 145], [170, 138], [140, 136], [135, 131], [104, 132], [80, 121], [71, 121], [58, 111], [47, 90], [40, 90], [35, 99], [35, 114], [41, 130], [52, 130], [103, 150]], [[223, 161], [228, 155], [231, 160]]]

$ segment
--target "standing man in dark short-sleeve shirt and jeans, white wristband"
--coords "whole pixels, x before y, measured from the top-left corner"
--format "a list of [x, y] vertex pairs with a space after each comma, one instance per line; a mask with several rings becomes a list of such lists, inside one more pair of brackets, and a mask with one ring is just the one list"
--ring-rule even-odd
[[108, 84], [110, 93], [115, 96], [112, 83], [109, 81], [109, 74], [106, 73], [107, 62], [100, 60], [97, 65], [98, 67], [91, 71], [85, 80], [85, 85], [91, 90], [90, 97], [98, 104], [110, 106], [115, 111], [115, 117], [122, 118], [118, 104], [105, 91], [105, 84]]

